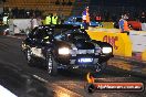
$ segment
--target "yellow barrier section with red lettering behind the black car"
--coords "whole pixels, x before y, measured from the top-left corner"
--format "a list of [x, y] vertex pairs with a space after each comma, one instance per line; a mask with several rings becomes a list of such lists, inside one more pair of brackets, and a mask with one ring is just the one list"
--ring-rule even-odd
[[93, 40], [107, 42], [113, 45], [114, 55], [132, 56], [132, 42], [126, 33], [109, 33], [87, 30], [88, 35]]

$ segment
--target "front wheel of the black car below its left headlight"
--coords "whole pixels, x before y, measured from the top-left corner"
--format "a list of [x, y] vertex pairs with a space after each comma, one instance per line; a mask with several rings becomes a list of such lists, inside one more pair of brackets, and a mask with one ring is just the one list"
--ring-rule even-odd
[[49, 54], [46, 57], [46, 66], [48, 66], [48, 73], [50, 75], [56, 75], [58, 74], [58, 63], [55, 62], [52, 54]]

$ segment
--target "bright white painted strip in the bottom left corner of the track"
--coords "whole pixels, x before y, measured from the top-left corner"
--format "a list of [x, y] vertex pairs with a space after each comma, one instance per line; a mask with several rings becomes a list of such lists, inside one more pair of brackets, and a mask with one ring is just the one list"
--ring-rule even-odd
[[0, 85], [0, 97], [18, 97], [18, 96], [15, 96], [10, 90], [8, 90], [7, 88]]

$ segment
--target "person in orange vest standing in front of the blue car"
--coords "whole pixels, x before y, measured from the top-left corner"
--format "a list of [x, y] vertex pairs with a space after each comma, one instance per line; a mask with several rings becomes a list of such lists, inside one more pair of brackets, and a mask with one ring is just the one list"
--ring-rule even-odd
[[90, 25], [90, 12], [88, 12], [88, 7], [85, 8], [85, 10], [82, 12], [82, 20], [83, 20], [83, 26], [85, 30], [88, 29], [88, 25]]

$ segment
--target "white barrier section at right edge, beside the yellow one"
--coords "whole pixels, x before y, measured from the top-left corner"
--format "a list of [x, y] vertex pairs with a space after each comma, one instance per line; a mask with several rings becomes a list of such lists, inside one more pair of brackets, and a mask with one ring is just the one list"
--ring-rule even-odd
[[146, 31], [131, 31], [129, 39], [133, 43], [133, 52], [146, 50]]

